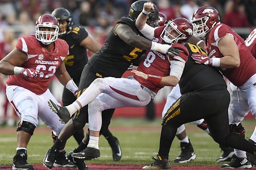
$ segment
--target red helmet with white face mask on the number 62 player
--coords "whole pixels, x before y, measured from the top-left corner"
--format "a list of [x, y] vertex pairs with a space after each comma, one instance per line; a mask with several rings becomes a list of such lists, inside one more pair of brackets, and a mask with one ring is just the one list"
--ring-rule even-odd
[[[41, 28], [53, 28], [54, 31], [41, 31]], [[44, 45], [49, 45], [58, 38], [58, 20], [51, 14], [41, 15], [35, 23], [35, 37]]]

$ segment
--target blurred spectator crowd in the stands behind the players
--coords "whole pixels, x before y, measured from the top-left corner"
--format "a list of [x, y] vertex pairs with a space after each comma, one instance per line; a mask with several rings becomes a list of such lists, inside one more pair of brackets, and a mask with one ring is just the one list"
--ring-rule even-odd
[[[73, 14], [74, 25], [81, 25], [103, 44], [111, 26], [128, 14], [131, 3], [136, 0], [0, 0], [0, 59], [15, 46], [18, 37], [35, 34], [35, 21], [41, 14], [51, 13], [55, 8], [67, 8]], [[232, 28], [256, 26], [256, 0], [150, 0], [168, 20], [186, 17], [199, 6], [213, 6], [219, 11], [221, 22]], [[247, 34], [248, 35], [248, 34]], [[244, 35], [242, 37], [247, 37]], [[5, 99], [5, 79], [0, 75], [0, 98]], [[3, 97], [2, 97], [3, 96]], [[0, 124], [13, 119], [8, 116], [8, 102], [0, 103]], [[11, 108], [12, 109], [12, 108]], [[9, 114], [9, 113], [8, 113]], [[13, 122], [13, 121], [12, 121]]]

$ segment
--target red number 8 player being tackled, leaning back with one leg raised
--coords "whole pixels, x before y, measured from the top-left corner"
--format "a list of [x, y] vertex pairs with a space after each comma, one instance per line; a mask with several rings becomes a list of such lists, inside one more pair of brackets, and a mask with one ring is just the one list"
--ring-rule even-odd
[[[148, 14], [145, 13], [145, 20]], [[169, 29], [169, 27], [172, 27], [174, 30], [171, 34], [168, 33], [169, 36], [175, 39], [172, 42], [169, 41], [169, 38], [162, 36], [166, 34], [166, 29]], [[61, 108], [63, 111], [74, 113], [89, 104], [90, 141], [87, 148], [79, 153], [73, 153], [73, 157], [80, 159], [99, 158], [98, 141], [99, 130], [102, 125], [102, 111], [111, 108], [142, 107], [148, 105], [154, 99], [157, 92], [165, 85], [177, 85], [187, 61], [188, 51], [184, 45], [173, 43], [184, 43], [189, 40], [192, 36], [192, 28], [192, 24], [188, 20], [177, 18], [166, 26], [156, 28], [151, 32], [153, 34], [149, 35], [143, 32], [143, 35], [148, 39], [158, 43], [172, 44], [172, 47], [179, 49], [181, 52], [173, 54], [172, 52], [174, 51], [170, 51], [168, 55], [158, 51], [147, 50], [137, 70], [132, 70], [135, 74], [134, 79], [98, 78], [79, 96], [76, 102]], [[151, 74], [157, 74], [157, 76]], [[50, 103], [50, 107], [60, 111], [58, 109], [59, 106], [54, 102]]]

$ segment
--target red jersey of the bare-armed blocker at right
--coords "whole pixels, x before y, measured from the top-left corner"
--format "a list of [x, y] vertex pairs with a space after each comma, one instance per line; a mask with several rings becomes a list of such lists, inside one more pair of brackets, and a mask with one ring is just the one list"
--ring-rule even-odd
[[221, 23], [214, 26], [209, 32], [208, 40], [206, 39], [204, 41], [204, 48], [209, 57], [223, 57], [218, 48], [218, 41], [226, 34], [231, 34], [238, 46], [240, 66], [237, 68], [219, 68], [219, 70], [230, 82], [239, 87], [256, 74], [256, 59], [251, 54], [249, 48], [244, 44], [244, 40], [229, 26]]

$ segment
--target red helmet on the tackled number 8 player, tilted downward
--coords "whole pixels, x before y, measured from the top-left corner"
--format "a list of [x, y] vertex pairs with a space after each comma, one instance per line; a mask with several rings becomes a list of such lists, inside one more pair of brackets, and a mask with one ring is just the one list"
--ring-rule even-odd
[[168, 44], [185, 43], [192, 34], [192, 23], [186, 18], [176, 18], [168, 21], [160, 37]]

